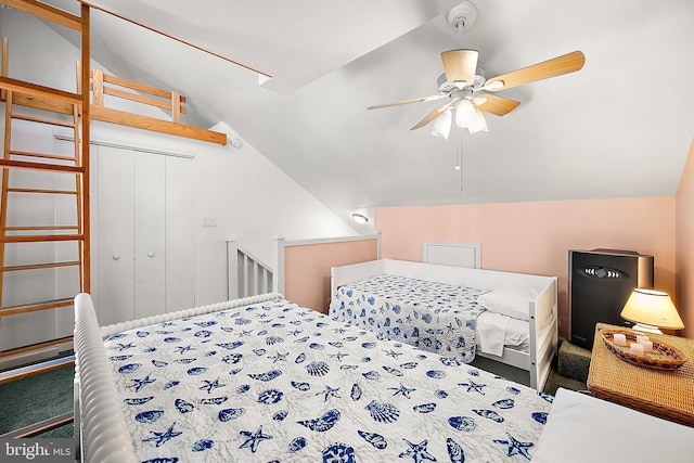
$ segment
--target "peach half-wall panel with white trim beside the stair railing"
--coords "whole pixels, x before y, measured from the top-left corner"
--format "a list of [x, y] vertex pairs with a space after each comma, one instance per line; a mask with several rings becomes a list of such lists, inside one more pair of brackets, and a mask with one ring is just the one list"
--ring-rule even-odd
[[375, 239], [306, 244], [284, 248], [284, 293], [288, 300], [327, 313], [330, 268], [375, 260]]

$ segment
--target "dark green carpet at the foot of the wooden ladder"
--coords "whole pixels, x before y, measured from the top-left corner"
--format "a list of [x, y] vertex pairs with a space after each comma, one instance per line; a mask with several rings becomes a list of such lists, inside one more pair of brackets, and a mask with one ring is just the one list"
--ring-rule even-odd
[[[70, 366], [0, 385], [0, 434], [72, 411], [74, 376]], [[68, 430], [56, 428], [48, 433], [63, 434], [46, 437], [73, 437], [72, 424], [61, 427]]]

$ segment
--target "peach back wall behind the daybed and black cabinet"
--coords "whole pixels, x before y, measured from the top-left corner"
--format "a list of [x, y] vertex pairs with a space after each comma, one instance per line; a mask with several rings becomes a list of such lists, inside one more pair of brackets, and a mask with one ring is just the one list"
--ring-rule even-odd
[[378, 208], [374, 223], [385, 258], [421, 261], [424, 241], [481, 243], [485, 269], [558, 276], [566, 337], [568, 250], [653, 255], [655, 287], [674, 294], [674, 197], [655, 197]]

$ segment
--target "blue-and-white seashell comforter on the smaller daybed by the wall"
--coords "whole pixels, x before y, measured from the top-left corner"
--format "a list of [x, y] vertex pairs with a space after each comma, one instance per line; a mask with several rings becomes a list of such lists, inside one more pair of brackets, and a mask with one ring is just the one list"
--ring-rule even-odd
[[477, 317], [487, 293], [467, 286], [378, 275], [340, 286], [331, 301], [335, 320], [382, 334], [429, 352], [475, 360]]

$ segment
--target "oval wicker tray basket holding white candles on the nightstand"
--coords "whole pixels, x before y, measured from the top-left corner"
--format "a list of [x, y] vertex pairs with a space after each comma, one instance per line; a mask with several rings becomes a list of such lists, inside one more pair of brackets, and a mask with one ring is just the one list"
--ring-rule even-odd
[[[624, 334], [627, 338], [627, 346], [617, 346], [615, 344], [615, 334]], [[665, 344], [660, 340], [651, 339], [653, 342], [653, 351], [644, 353], [644, 356], [634, 356], [630, 352], [630, 344], [637, 342], [637, 333], [628, 330], [601, 330], [601, 336], [609, 350], [617, 355], [620, 359], [633, 363], [639, 366], [645, 366], [655, 370], [677, 370], [686, 362], [686, 356], [676, 347]]]

